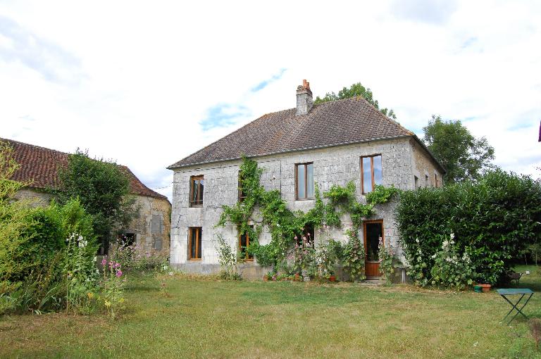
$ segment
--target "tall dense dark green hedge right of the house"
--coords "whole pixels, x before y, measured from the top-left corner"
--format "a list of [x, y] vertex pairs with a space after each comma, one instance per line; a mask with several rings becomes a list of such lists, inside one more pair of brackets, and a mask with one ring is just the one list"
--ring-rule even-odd
[[477, 182], [404, 191], [397, 206], [404, 255], [418, 284], [430, 284], [433, 256], [454, 234], [478, 282], [505, 282], [511, 259], [541, 239], [541, 182], [496, 170]]

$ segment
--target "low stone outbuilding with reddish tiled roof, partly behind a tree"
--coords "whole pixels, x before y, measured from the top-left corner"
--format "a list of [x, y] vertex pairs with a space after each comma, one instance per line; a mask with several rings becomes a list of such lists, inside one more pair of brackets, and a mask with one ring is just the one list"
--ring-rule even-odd
[[[68, 153], [45, 149], [11, 139], [1, 139], [13, 147], [14, 158], [20, 168], [11, 180], [31, 182], [15, 198], [30, 206], [47, 206], [52, 199], [50, 189], [58, 189], [58, 169], [68, 163]], [[166, 196], [145, 186], [128, 167], [120, 166], [128, 175], [131, 193], [136, 196], [139, 218], [135, 218], [122, 232], [129, 241], [144, 246], [145, 251], [169, 251], [171, 204]]]

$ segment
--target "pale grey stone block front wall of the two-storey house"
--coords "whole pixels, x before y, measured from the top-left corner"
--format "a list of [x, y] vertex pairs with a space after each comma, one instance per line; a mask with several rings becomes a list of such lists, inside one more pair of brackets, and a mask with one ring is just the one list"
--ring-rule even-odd
[[[399, 189], [413, 188], [413, 168], [411, 144], [408, 138], [370, 141], [362, 144], [338, 146], [328, 149], [316, 149], [284, 153], [275, 156], [256, 158], [263, 168], [261, 184], [266, 189], [279, 189], [282, 198], [287, 201], [291, 210], [307, 211], [314, 206], [313, 200], [295, 200], [295, 164], [313, 162], [313, 177], [323, 191], [332, 184], [344, 186], [349, 181], [356, 185], [356, 196], [365, 201], [361, 195], [361, 156], [382, 155], [383, 185], [394, 185]], [[223, 228], [214, 226], [222, 213], [221, 206], [232, 206], [237, 202], [237, 181], [240, 160], [208, 165], [192, 166], [175, 170], [173, 180], [173, 214], [171, 225], [170, 264], [189, 272], [209, 273], [219, 269], [218, 253], [214, 248], [217, 234], [223, 237], [233, 248], [238, 247], [237, 228], [226, 225]], [[188, 204], [189, 177], [204, 175], [204, 205], [202, 208], [190, 208]], [[392, 246], [398, 244], [398, 233], [394, 222], [393, 210], [396, 203], [386, 203], [376, 207], [376, 215], [371, 219], [383, 219], [385, 243]], [[331, 236], [346, 241], [344, 229], [352, 226], [346, 216], [341, 229], [332, 229]], [[189, 227], [202, 227], [201, 260], [187, 260], [187, 237]], [[322, 237], [316, 232], [316, 242]], [[361, 238], [363, 234], [361, 232]], [[265, 228], [259, 242], [268, 244], [270, 234]]]

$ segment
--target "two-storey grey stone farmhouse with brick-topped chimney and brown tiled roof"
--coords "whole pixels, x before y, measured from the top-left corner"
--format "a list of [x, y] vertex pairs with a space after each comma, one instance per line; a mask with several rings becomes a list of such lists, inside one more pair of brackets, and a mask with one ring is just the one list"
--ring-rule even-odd
[[[413, 132], [387, 118], [362, 97], [313, 105], [309, 82], [297, 87], [297, 107], [268, 113], [204, 147], [168, 168], [174, 171], [170, 264], [187, 272], [219, 270], [213, 239], [220, 232], [233, 248], [249, 246], [235, 225], [216, 228], [221, 206], [239, 200], [238, 180], [242, 156], [263, 168], [261, 184], [278, 189], [291, 210], [314, 206], [314, 186], [327, 191], [332, 184], [353, 181], [356, 196], [376, 184], [399, 189], [439, 187], [444, 168]], [[393, 210], [396, 203], [376, 206], [359, 235], [366, 248], [366, 275], [378, 277], [378, 239], [398, 246]], [[332, 237], [346, 241], [344, 218]], [[312, 229], [313, 231], [313, 229]], [[311, 233], [316, 243], [321, 233]], [[268, 244], [266, 228], [259, 243]], [[249, 258], [250, 259], [250, 258]], [[243, 276], [260, 277], [266, 268], [247, 261]]]

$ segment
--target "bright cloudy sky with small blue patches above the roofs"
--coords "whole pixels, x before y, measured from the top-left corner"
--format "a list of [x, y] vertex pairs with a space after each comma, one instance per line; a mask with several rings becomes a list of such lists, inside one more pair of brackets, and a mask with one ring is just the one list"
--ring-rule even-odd
[[294, 107], [303, 79], [361, 82], [418, 135], [461, 120], [540, 176], [539, 1], [192, 3], [0, 1], [0, 137], [89, 149], [170, 196], [167, 165]]

